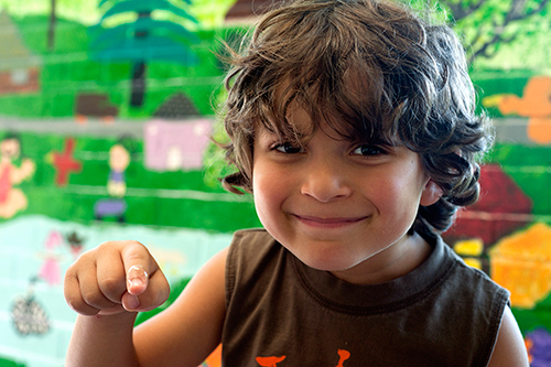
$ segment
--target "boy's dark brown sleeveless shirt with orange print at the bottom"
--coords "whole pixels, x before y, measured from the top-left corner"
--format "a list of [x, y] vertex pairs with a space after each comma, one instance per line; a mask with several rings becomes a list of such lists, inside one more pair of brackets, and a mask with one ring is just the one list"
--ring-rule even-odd
[[486, 366], [509, 292], [432, 242], [410, 273], [355, 285], [306, 267], [264, 230], [236, 233], [223, 365]]

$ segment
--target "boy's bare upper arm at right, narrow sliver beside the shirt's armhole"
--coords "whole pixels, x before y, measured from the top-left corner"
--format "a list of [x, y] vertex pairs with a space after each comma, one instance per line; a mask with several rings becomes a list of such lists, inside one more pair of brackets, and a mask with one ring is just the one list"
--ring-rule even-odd
[[488, 364], [488, 367], [507, 366], [529, 366], [525, 341], [509, 306], [505, 307], [496, 346]]

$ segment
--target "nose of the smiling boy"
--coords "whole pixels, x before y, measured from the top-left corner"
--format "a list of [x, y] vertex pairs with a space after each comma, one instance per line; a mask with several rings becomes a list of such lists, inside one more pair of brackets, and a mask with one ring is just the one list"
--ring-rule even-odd
[[348, 197], [352, 188], [347, 183], [343, 168], [337, 162], [320, 162], [310, 164], [303, 172], [304, 182], [301, 193], [318, 202], [328, 203]]

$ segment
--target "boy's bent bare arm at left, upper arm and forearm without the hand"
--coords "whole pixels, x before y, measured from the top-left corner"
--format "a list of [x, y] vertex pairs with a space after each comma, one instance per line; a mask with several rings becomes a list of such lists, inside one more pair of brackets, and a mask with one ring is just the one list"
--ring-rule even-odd
[[220, 343], [227, 249], [166, 310], [138, 327], [134, 312], [78, 315], [66, 366], [198, 366]]

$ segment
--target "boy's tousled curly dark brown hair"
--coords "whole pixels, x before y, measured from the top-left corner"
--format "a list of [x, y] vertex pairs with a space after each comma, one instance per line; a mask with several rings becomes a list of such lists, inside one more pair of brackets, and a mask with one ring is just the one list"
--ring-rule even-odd
[[442, 188], [420, 206], [410, 233], [433, 235], [458, 206], [477, 201], [478, 161], [491, 130], [475, 114], [476, 95], [464, 50], [446, 25], [398, 3], [299, 0], [268, 12], [226, 77], [226, 156], [238, 169], [223, 179], [251, 192], [255, 128], [293, 137], [291, 104], [345, 139], [399, 143], [420, 154]]

